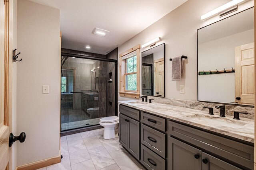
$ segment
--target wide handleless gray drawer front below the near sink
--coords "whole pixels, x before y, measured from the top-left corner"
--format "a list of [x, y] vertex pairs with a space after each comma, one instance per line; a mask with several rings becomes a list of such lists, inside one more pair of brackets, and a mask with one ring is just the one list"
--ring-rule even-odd
[[177, 137], [187, 143], [202, 148], [204, 152], [210, 152], [221, 159], [227, 159], [234, 164], [240, 164], [253, 169], [254, 147], [214, 135], [199, 129], [188, 127], [180, 123], [169, 121], [168, 134]]

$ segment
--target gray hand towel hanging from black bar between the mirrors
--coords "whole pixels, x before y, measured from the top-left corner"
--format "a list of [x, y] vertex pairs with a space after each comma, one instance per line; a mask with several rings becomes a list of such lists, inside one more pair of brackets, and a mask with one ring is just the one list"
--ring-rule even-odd
[[180, 76], [184, 74], [181, 56], [172, 58], [172, 80], [180, 80]]

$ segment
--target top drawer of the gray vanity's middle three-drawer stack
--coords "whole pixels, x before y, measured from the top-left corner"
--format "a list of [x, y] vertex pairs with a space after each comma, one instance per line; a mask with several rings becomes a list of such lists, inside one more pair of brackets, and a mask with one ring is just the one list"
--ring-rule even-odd
[[154, 127], [156, 129], [159, 129], [160, 131], [164, 131], [165, 132], [165, 119], [158, 117], [158, 116], [154, 116], [154, 115], [150, 115], [148, 113], [142, 112], [141, 113], [141, 122], [145, 123], [151, 127]]

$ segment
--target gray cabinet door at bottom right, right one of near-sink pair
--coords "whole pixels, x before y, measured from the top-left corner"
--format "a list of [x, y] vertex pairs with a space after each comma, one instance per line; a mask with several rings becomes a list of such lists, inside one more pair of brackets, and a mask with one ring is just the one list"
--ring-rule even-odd
[[202, 170], [241, 170], [223, 160], [202, 152]]

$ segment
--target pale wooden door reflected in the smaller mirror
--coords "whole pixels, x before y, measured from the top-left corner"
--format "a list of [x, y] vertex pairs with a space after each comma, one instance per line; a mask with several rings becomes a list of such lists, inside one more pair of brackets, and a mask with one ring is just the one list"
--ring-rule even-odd
[[164, 96], [164, 58], [154, 61], [154, 96]]

